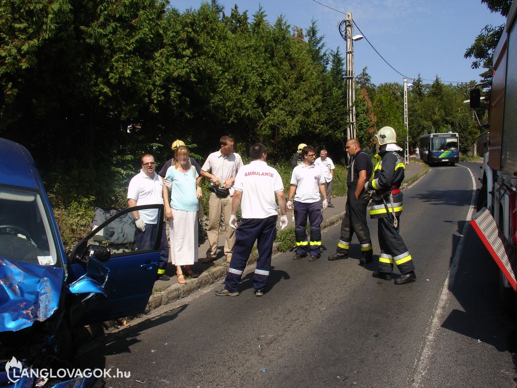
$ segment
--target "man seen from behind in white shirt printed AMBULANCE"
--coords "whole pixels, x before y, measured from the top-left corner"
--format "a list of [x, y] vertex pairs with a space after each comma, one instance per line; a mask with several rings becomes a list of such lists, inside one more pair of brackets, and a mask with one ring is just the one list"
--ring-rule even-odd
[[[246, 267], [251, 249], [257, 242], [258, 260], [253, 275], [256, 296], [264, 295], [269, 270], [273, 241], [277, 235], [277, 203], [280, 206], [280, 230], [287, 226], [284, 186], [277, 170], [266, 163], [266, 147], [256, 143], [250, 148], [251, 163], [242, 167], [235, 178], [235, 193], [232, 201], [230, 225], [237, 229], [230, 268], [224, 279], [224, 288], [216, 291], [218, 296], [237, 296], [242, 271]], [[237, 208], [241, 204], [242, 220], [237, 228]]]

